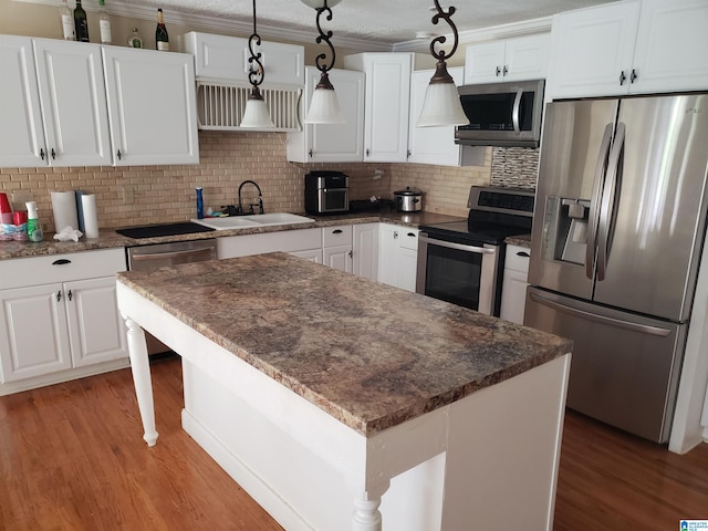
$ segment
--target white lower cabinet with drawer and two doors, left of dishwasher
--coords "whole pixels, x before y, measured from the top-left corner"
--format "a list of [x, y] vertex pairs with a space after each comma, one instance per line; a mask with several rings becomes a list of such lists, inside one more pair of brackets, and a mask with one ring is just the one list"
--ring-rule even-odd
[[127, 366], [115, 294], [123, 248], [4, 260], [0, 270], [0, 395]]

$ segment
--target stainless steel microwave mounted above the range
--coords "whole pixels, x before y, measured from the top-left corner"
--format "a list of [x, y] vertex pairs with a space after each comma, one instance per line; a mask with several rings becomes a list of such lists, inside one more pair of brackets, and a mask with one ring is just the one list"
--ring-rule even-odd
[[460, 102], [469, 125], [455, 131], [468, 146], [538, 147], [543, 114], [543, 80], [462, 85]]

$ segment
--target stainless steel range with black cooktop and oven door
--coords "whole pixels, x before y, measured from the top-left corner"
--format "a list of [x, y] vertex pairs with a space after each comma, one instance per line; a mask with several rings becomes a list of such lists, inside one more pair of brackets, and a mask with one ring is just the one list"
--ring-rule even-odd
[[531, 232], [534, 192], [472, 186], [467, 221], [420, 227], [416, 292], [499, 316], [504, 239]]

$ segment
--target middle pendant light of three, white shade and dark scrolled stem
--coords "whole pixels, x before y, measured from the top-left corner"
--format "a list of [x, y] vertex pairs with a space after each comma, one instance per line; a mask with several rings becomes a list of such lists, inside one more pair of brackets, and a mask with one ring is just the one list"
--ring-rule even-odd
[[330, 46], [330, 53], [332, 54], [329, 63], [324, 63], [327, 59], [326, 53], [321, 53], [315, 59], [315, 66], [322, 74], [320, 82], [312, 93], [312, 101], [310, 102], [310, 110], [305, 116], [305, 124], [343, 124], [344, 115], [340, 110], [340, 102], [336, 98], [334, 86], [327, 75], [327, 71], [334, 66], [335, 59], [334, 46], [331, 42], [333, 33], [332, 31], [323, 32], [322, 25], [320, 24], [320, 19], [324, 13], [326, 13], [327, 20], [332, 20], [331, 8], [340, 3], [340, 0], [302, 0], [302, 2], [316, 10], [317, 15], [315, 22], [320, 37], [315, 39], [315, 42], [320, 44], [324, 41], [326, 45]]

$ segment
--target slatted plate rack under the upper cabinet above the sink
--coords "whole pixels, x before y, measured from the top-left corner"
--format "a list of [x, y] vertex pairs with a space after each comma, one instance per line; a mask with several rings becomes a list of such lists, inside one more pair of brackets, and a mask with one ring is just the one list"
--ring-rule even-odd
[[[197, 122], [204, 131], [253, 132], [260, 129], [240, 127], [251, 85], [219, 82], [197, 82]], [[302, 88], [264, 88], [261, 94], [268, 105], [274, 128], [267, 132], [302, 131], [298, 110]]]

